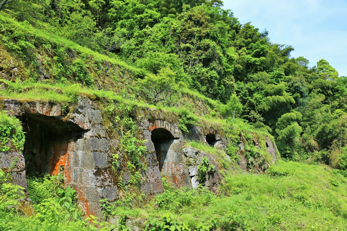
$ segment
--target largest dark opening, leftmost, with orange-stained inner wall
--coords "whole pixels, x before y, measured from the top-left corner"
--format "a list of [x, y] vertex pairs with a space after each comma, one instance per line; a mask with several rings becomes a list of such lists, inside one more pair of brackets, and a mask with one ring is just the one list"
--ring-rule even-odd
[[22, 116], [26, 175], [64, 173], [68, 144], [84, 131], [72, 122], [43, 115]]

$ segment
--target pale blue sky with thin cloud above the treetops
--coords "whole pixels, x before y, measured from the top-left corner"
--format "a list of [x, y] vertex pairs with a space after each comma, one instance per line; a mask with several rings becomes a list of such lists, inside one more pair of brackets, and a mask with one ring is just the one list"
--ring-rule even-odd
[[314, 66], [326, 59], [347, 76], [347, 0], [224, 0], [240, 23], [269, 31], [272, 43], [291, 45], [291, 56]]

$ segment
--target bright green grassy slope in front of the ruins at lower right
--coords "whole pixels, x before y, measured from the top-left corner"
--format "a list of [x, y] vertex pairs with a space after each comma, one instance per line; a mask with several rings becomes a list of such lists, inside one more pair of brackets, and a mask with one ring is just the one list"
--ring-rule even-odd
[[[229, 173], [217, 196], [167, 189], [144, 208], [118, 207], [115, 214], [163, 218], [170, 214], [190, 229], [198, 224], [243, 230], [345, 230], [346, 178], [327, 166], [280, 161], [269, 174]], [[163, 198], [165, 200], [163, 200]], [[176, 198], [174, 203], [170, 198]], [[180, 199], [181, 198], [181, 199]], [[185, 202], [182, 202], [184, 198]], [[156, 201], [167, 206], [158, 207]], [[185, 204], [184, 204], [185, 203]], [[231, 229], [232, 230], [232, 229]]]

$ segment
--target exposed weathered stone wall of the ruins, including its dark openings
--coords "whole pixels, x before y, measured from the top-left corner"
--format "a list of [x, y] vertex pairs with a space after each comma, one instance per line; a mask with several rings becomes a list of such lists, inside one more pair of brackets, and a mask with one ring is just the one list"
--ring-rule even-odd
[[[86, 214], [101, 216], [99, 200], [108, 198], [114, 201], [118, 197], [111, 156], [119, 143], [119, 137], [110, 137], [105, 132], [98, 104], [89, 99], [80, 99], [77, 107], [68, 114], [63, 113], [60, 105], [48, 102], [9, 99], [4, 100], [3, 104], [4, 110], [22, 121], [26, 141], [23, 152], [10, 150], [0, 153], [0, 168], [9, 169], [16, 159], [17, 162], [11, 169], [13, 180], [24, 188], [27, 188], [26, 174], [62, 173], [65, 184], [76, 190], [78, 202]], [[230, 157], [185, 147], [184, 141], [196, 140], [226, 151], [227, 138], [213, 126], [192, 126], [189, 134], [182, 134], [174, 118], [169, 121], [157, 112], [143, 111], [143, 115], [136, 118], [140, 138], [146, 140], [147, 147], [147, 168], [142, 173], [140, 186], [142, 192], [148, 196], [163, 192], [162, 176], [176, 187], [197, 188], [202, 183], [207, 189], [217, 192], [222, 177], [218, 160], [222, 158], [229, 165], [228, 168], [231, 168]], [[259, 146], [257, 140], [254, 143]], [[277, 148], [269, 137], [266, 138], [266, 146], [275, 162]], [[244, 147], [245, 143], [240, 139], [239, 166], [250, 171]], [[199, 165], [206, 159], [215, 171], [206, 172], [205, 180], [199, 182]], [[253, 172], [267, 169], [266, 163], [262, 163], [261, 159], [254, 162]], [[124, 172], [121, 183], [126, 185], [130, 178]]]

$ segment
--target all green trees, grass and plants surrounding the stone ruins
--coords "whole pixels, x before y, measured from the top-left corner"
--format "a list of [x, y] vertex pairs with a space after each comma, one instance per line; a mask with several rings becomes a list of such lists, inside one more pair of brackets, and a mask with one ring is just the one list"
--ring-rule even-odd
[[[146, 230], [346, 229], [347, 78], [325, 59], [312, 66], [291, 57], [294, 48], [271, 43], [222, 4], [0, 0], [1, 99], [68, 109], [84, 96], [165, 111], [183, 124], [219, 122], [235, 136], [271, 134], [283, 160], [266, 174], [226, 173], [217, 195], [167, 184], [150, 201], [131, 193], [104, 200], [116, 225], [84, 220], [59, 176], [28, 179], [33, 206], [19, 205], [19, 186], [0, 171], [0, 230], [121, 230], [130, 219]], [[24, 142], [19, 121], [2, 112], [0, 131], [1, 147], [11, 131], [18, 147]]]

